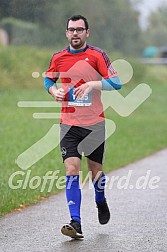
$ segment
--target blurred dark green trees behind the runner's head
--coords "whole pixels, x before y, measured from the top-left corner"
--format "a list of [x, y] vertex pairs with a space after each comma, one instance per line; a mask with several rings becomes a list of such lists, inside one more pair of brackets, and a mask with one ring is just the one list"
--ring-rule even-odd
[[73, 14], [88, 18], [89, 43], [105, 50], [135, 54], [141, 46], [139, 13], [131, 1], [142, 0], [0, 0], [1, 17], [33, 22], [39, 27], [40, 43], [58, 47], [66, 44], [66, 20]]

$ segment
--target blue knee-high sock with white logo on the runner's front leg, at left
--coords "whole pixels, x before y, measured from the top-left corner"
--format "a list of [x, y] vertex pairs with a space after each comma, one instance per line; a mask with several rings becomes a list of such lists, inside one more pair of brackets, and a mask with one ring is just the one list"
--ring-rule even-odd
[[66, 198], [73, 220], [81, 222], [81, 189], [79, 186], [79, 176], [66, 176]]

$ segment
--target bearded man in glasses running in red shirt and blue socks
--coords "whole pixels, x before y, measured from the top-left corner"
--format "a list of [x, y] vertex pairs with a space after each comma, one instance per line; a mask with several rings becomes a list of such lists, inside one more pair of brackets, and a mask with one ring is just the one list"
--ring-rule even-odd
[[[110, 219], [102, 169], [105, 118], [101, 91], [117, 90], [122, 86], [106, 53], [87, 44], [89, 33], [85, 17], [69, 18], [66, 28], [69, 46], [52, 56], [44, 78], [46, 90], [55, 101], [62, 103], [60, 148], [66, 168], [66, 198], [71, 221], [63, 225], [61, 232], [71, 238], [83, 238], [79, 186], [83, 153], [92, 176], [99, 222], [106, 224]], [[56, 85], [59, 78], [61, 88]]]

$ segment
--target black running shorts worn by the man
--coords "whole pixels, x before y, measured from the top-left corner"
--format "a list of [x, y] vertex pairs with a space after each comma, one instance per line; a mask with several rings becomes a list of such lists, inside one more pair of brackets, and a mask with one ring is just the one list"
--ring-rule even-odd
[[105, 146], [105, 122], [91, 126], [60, 124], [60, 148], [63, 162], [69, 157], [82, 158], [102, 164]]

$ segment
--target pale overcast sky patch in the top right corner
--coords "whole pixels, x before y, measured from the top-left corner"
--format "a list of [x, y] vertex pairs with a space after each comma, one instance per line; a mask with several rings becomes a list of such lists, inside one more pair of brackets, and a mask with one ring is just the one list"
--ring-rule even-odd
[[142, 28], [147, 26], [147, 17], [150, 11], [156, 10], [159, 6], [166, 3], [167, 0], [142, 0], [142, 4], [140, 5], [140, 24]]

